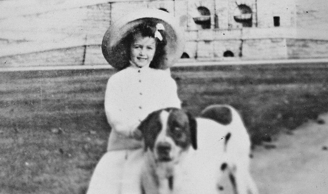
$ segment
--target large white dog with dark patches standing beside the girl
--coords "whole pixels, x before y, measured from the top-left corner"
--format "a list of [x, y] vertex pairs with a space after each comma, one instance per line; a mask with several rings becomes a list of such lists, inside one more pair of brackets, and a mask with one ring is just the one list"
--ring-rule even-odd
[[233, 107], [212, 105], [196, 119], [181, 109], [161, 109], [138, 129], [147, 151], [143, 193], [257, 193], [248, 167], [249, 136]]

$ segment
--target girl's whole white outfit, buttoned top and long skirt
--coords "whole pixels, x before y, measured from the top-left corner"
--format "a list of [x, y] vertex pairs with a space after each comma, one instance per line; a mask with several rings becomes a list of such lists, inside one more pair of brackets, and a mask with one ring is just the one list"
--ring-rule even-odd
[[144, 151], [141, 141], [131, 134], [148, 114], [167, 107], [181, 108], [170, 70], [129, 66], [110, 77], [105, 112], [112, 131], [108, 152], [93, 172], [88, 194], [141, 192], [138, 181]]

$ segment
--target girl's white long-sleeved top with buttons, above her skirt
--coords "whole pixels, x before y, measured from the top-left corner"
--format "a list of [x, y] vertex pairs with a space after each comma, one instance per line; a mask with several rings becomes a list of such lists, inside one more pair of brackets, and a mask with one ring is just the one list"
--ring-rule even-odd
[[129, 138], [149, 113], [161, 108], [180, 108], [177, 86], [169, 70], [130, 66], [107, 83], [105, 112], [112, 127], [107, 150], [140, 147]]

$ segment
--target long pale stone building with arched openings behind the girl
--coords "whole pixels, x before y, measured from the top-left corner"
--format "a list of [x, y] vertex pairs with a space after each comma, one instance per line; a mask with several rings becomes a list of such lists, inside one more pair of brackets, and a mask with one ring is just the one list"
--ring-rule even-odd
[[106, 64], [100, 45], [103, 34], [124, 10], [141, 7], [178, 18], [187, 40], [181, 57], [189, 58], [181, 60], [328, 57], [328, 37], [297, 38], [297, 25], [310, 17], [297, 10], [296, 0], [80, 2], [51, 11], [0, 14], [0, 47], [5, 48], [0, 52], [1, 67]]

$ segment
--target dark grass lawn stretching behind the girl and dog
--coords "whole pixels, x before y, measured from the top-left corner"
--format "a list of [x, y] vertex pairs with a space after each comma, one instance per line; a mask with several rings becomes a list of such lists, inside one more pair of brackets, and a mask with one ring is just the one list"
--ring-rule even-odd
[[[106, 150], [103, 101], [113, 70], [0, 73], [0, 193], [86, 191]], [[242, 114], [254, 144], [328, 112], [328, 64], [174, 67], [184, 109]]]

